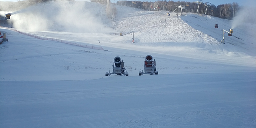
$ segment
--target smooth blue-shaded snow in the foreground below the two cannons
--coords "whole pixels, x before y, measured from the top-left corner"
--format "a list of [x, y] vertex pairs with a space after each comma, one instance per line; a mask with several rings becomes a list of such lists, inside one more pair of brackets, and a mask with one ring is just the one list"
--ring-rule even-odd
[[256, 72], [1, 81], [4, 128], [254, 128]]

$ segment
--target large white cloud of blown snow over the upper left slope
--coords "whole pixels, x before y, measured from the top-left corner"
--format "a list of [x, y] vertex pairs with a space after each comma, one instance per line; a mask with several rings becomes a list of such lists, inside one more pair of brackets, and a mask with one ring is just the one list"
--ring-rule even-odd
[[[103, 5], [91, 2], [49, 2], [26, 8], [11, 17], [14, 28], [31, 31], [107, 33], [108, 18]], [[105, 14], [105, 15], [104, 15]], [[110, 21], [109, 21], [110, 22]]]

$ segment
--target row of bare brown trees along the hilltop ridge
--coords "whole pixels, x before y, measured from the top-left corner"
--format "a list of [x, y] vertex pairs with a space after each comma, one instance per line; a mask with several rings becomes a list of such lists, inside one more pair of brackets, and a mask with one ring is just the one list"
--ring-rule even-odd
[[[148, 11], [169, 11], [173, 12], [175, 9], [178, 9], [180, 12], [180, 8], [176, 6], [183, 5], [186, 9], [182, 9], [182, 12], [190, 12], [190, 13], [201, 13], [206, 15], [211, 15], [213, 17], [219, 17], [222, 19], [232, 19], [236, 16], [237, 11], [239, 10], [240, 6], [234, 2], [233, 4], [221, 4], [217, 7], [213, 4], [209, 3], [202, 3], [198, 8], [198, 3], [195, 2], [185, 2], [185, 1], [178, 1], [174, 2], [173, 0], [158, 0], [156, 2], [141, 2], [141, 1], [117, 1], [117, 5], [119, 6], [130, 6], [130, 7], [137, 7], [141, 9], [145, 9]], [[206, 11], [207, 7], [207, 11]], [[197, 10], [198, 9], [198, 10]]]

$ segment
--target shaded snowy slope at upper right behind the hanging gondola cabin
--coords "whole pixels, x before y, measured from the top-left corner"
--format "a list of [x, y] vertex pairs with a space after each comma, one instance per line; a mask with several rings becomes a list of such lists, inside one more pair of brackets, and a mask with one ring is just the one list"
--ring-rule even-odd
[[[212, 17], [209, 15], [194, 15], [187, 14], [181, 17], [182, 20], [187, 22], [191, 27], [200, 30], [203, 33], [207, 33], [218, 41], [223, 39], [223, 29], [229, 31], [232, 21]], [[214, 24], [218, 22], [219, 28], [213, 28]], [[237, 53], [245, 53], [250, 56], [256, 56], [256, 24], [244, 22], [240, 24], [238, 28], [234, 29], [233, 36], [228, 37], [228, 34], [224, 34], [225, 43], [229, 43], [228, 49]]]

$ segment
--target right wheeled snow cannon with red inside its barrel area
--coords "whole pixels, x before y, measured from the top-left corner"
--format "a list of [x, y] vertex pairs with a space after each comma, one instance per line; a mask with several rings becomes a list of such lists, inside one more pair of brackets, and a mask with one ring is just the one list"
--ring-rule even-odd
[[154, 59], [153, 61], [153, 57], [150, 55], [146, 56], [144, 61], [144, 72], [143, 70], [139, 71], [139, 76], [143, 75], [144, 73], [151, 74], [151, 75], [158, 74], [158, 71], [156, 70], [156, 59]]

